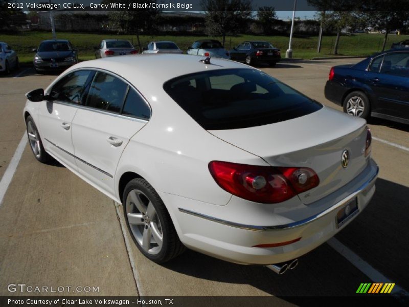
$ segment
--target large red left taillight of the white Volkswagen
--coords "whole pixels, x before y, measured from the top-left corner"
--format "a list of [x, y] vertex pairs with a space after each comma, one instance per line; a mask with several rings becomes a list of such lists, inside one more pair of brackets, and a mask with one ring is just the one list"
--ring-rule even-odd
[[240, 198], [256, 203], [280, 203], [319, 185], [317, 174], [305, 167], [271, 167], [212, 161], [216, 183]]

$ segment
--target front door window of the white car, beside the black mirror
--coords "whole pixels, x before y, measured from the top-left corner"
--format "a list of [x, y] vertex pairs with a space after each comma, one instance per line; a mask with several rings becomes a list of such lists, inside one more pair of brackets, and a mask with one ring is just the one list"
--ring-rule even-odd
[[80, 70], [66, 75], [51, 89], [50, 95], [54, 100], [82, 104], [82, 94], [90, 71]]

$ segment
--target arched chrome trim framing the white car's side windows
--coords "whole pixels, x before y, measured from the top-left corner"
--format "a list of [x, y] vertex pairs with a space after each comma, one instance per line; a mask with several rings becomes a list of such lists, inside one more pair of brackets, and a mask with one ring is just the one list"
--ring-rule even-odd
[[[64, 102], [64, 101], [58, 101], [58, 100], [53, 100], [52, 102], [64, 103], [64, 104], [66, 104], [66, 105], [73, 105], [73, 106], [77, 106], [77, 107], [82, 106], [82, 107], [84, 107], [85, 109], [87, 109], [87, 110], [89, 110], [89, 111], [102, 112], [103, 114], [113, 115], [113, 116], [119, 116], [119, 117], [121, 117], [121, 118], [127, 118], [127, 119], [131, 119], [131, 120], [142, 121], [142, 122], [148, 122], [148, 121], [152, 118], [152, 114], [153, 114], [152, 107], [150, 106], [150, 104], [149, 104], [148, 100], [145, 98], [145, 96], [142, 95], [142, 93], [141, 93], [140, 91], [138, 91], [138, 89], [137, 89], [131, 82], [129, 82], [127, 79], [125, 79], [125, 78], [119, 76], [118, 74], [116, 74], [116, 73], [114, 73], [114, 72], [111, 72], [111, 71], [109, 71], [109, 70], [105, 70], [105, 69], [102, 69], [102, 68], [81, 67], [81, 68], [78, 68], [78, 69], [74, 69], [74, 70], [72, 70], [72, 71], [70, 71], [70, 72], [68, 72], [68, 73], [66, 73], [66, 74], [64, 74], [64, 75], [62, 75], [61, 77], [57, 78], [53, 83], [51, 83], [50, 86], [47, 88], [47, 92], [46, 92], [45, 94], [46, 94], [46, 95], [49, 95], [50, 92], [51, 92], [51, 89], [54, 87], [54, 85], [55, 85], [58, 81], [60, 81], [62, 78], [64, 78], [65, 76], [67, 76], [67, 75], [69, 75], [69, 74], [71, 74], [71, 73], [74, 73], [74, 72], [77, 72], [77, 71], [81, 71], [81, 70], [89, 70], [89, 71], [95, 71], [95, 72], [98, 72], [98, 71], [99, 71], [99, 72], [102, 72], [102, 73], [111, 74], [111, 75], [113, 75], [114, 77], [116, 77], [116, 78], [120, 79], [121, 81], [125, 82], [131, 89], [135, 90], [135, 92], [137, 92], [138, 95], [142, 97], [142, 100], [143, 100], [143, 101], [146, 103], [146, 105], [148, 106], [148, 108], [149, 108], [149, 110], [150, 110], [150, 117], [149, 117], [149, 119], [141, 119], [141, 118], [132, 117], [132, 116], [129, 116], [129, 115], [122, 115], [122, 114], [118, 114], [118, 113], [114, 113], [114, 112], [103, 111], [102, 109], [93, 108], [93, 107], [86, 106], [86, 105], [80, 105], [80, 104], [70, 103], [70, 102]], [[125, 101], [124, 101], [124, 103], [125, 103]]]

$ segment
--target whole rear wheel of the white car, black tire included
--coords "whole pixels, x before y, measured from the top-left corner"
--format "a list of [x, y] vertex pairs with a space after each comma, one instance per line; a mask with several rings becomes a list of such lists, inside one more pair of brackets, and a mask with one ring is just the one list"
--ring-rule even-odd
[[148, 259], [162, 264], [185, 251], [160, 196], [144, 179], [131, 180], [123, 193], [128, 231]]

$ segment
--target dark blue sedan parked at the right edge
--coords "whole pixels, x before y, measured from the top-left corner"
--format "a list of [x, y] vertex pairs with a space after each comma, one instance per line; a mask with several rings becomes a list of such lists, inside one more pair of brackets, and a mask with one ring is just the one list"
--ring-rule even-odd
[[409, 50], [388, 50], [331, 68], [325, 97], [353, 116], [409, 124]]

